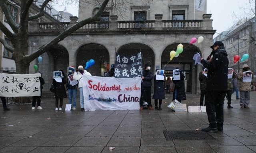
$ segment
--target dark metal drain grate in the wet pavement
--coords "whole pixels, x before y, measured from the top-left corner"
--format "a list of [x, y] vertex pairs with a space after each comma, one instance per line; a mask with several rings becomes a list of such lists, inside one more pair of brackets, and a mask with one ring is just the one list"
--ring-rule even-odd
[[166, 140], [216, 140], [212, 135], [204, 131], [163, 131]]

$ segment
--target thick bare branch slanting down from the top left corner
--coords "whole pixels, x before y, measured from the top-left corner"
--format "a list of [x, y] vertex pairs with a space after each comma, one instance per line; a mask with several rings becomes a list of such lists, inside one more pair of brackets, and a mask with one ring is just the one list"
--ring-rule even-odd
[[7, 19], [7, 22], [10, 25], [10, 27], [12, 28], [12, 30], [15, 33], [18, 33], [19, 25], [13, 20], [12, 14], [11, 14], [8, 6], [6, 5], [6, 0], [0, 0], [0, 7], [2, 8], [5, 18]]

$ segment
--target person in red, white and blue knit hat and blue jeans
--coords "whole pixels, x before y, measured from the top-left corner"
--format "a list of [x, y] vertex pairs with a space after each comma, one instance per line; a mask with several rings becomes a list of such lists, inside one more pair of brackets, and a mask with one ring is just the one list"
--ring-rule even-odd
[[[75, 71], [74, 66], [68, 67], [68, 76], [72, 75], [74, 73], [74, 71]], [[72, 98], [73, 98], [73, 101], [74, 101], [74, 103], [71, 106], [72, 110], [76, 110], [76, 86], [77, 86], [77, 84], [72, 86], [70, 84], [69, 79], [67, 80], [66, 88], [68, 90], [68, 97], [69, 97], [68, 102], [69, 102], [69, 104], [72, 104]]]

